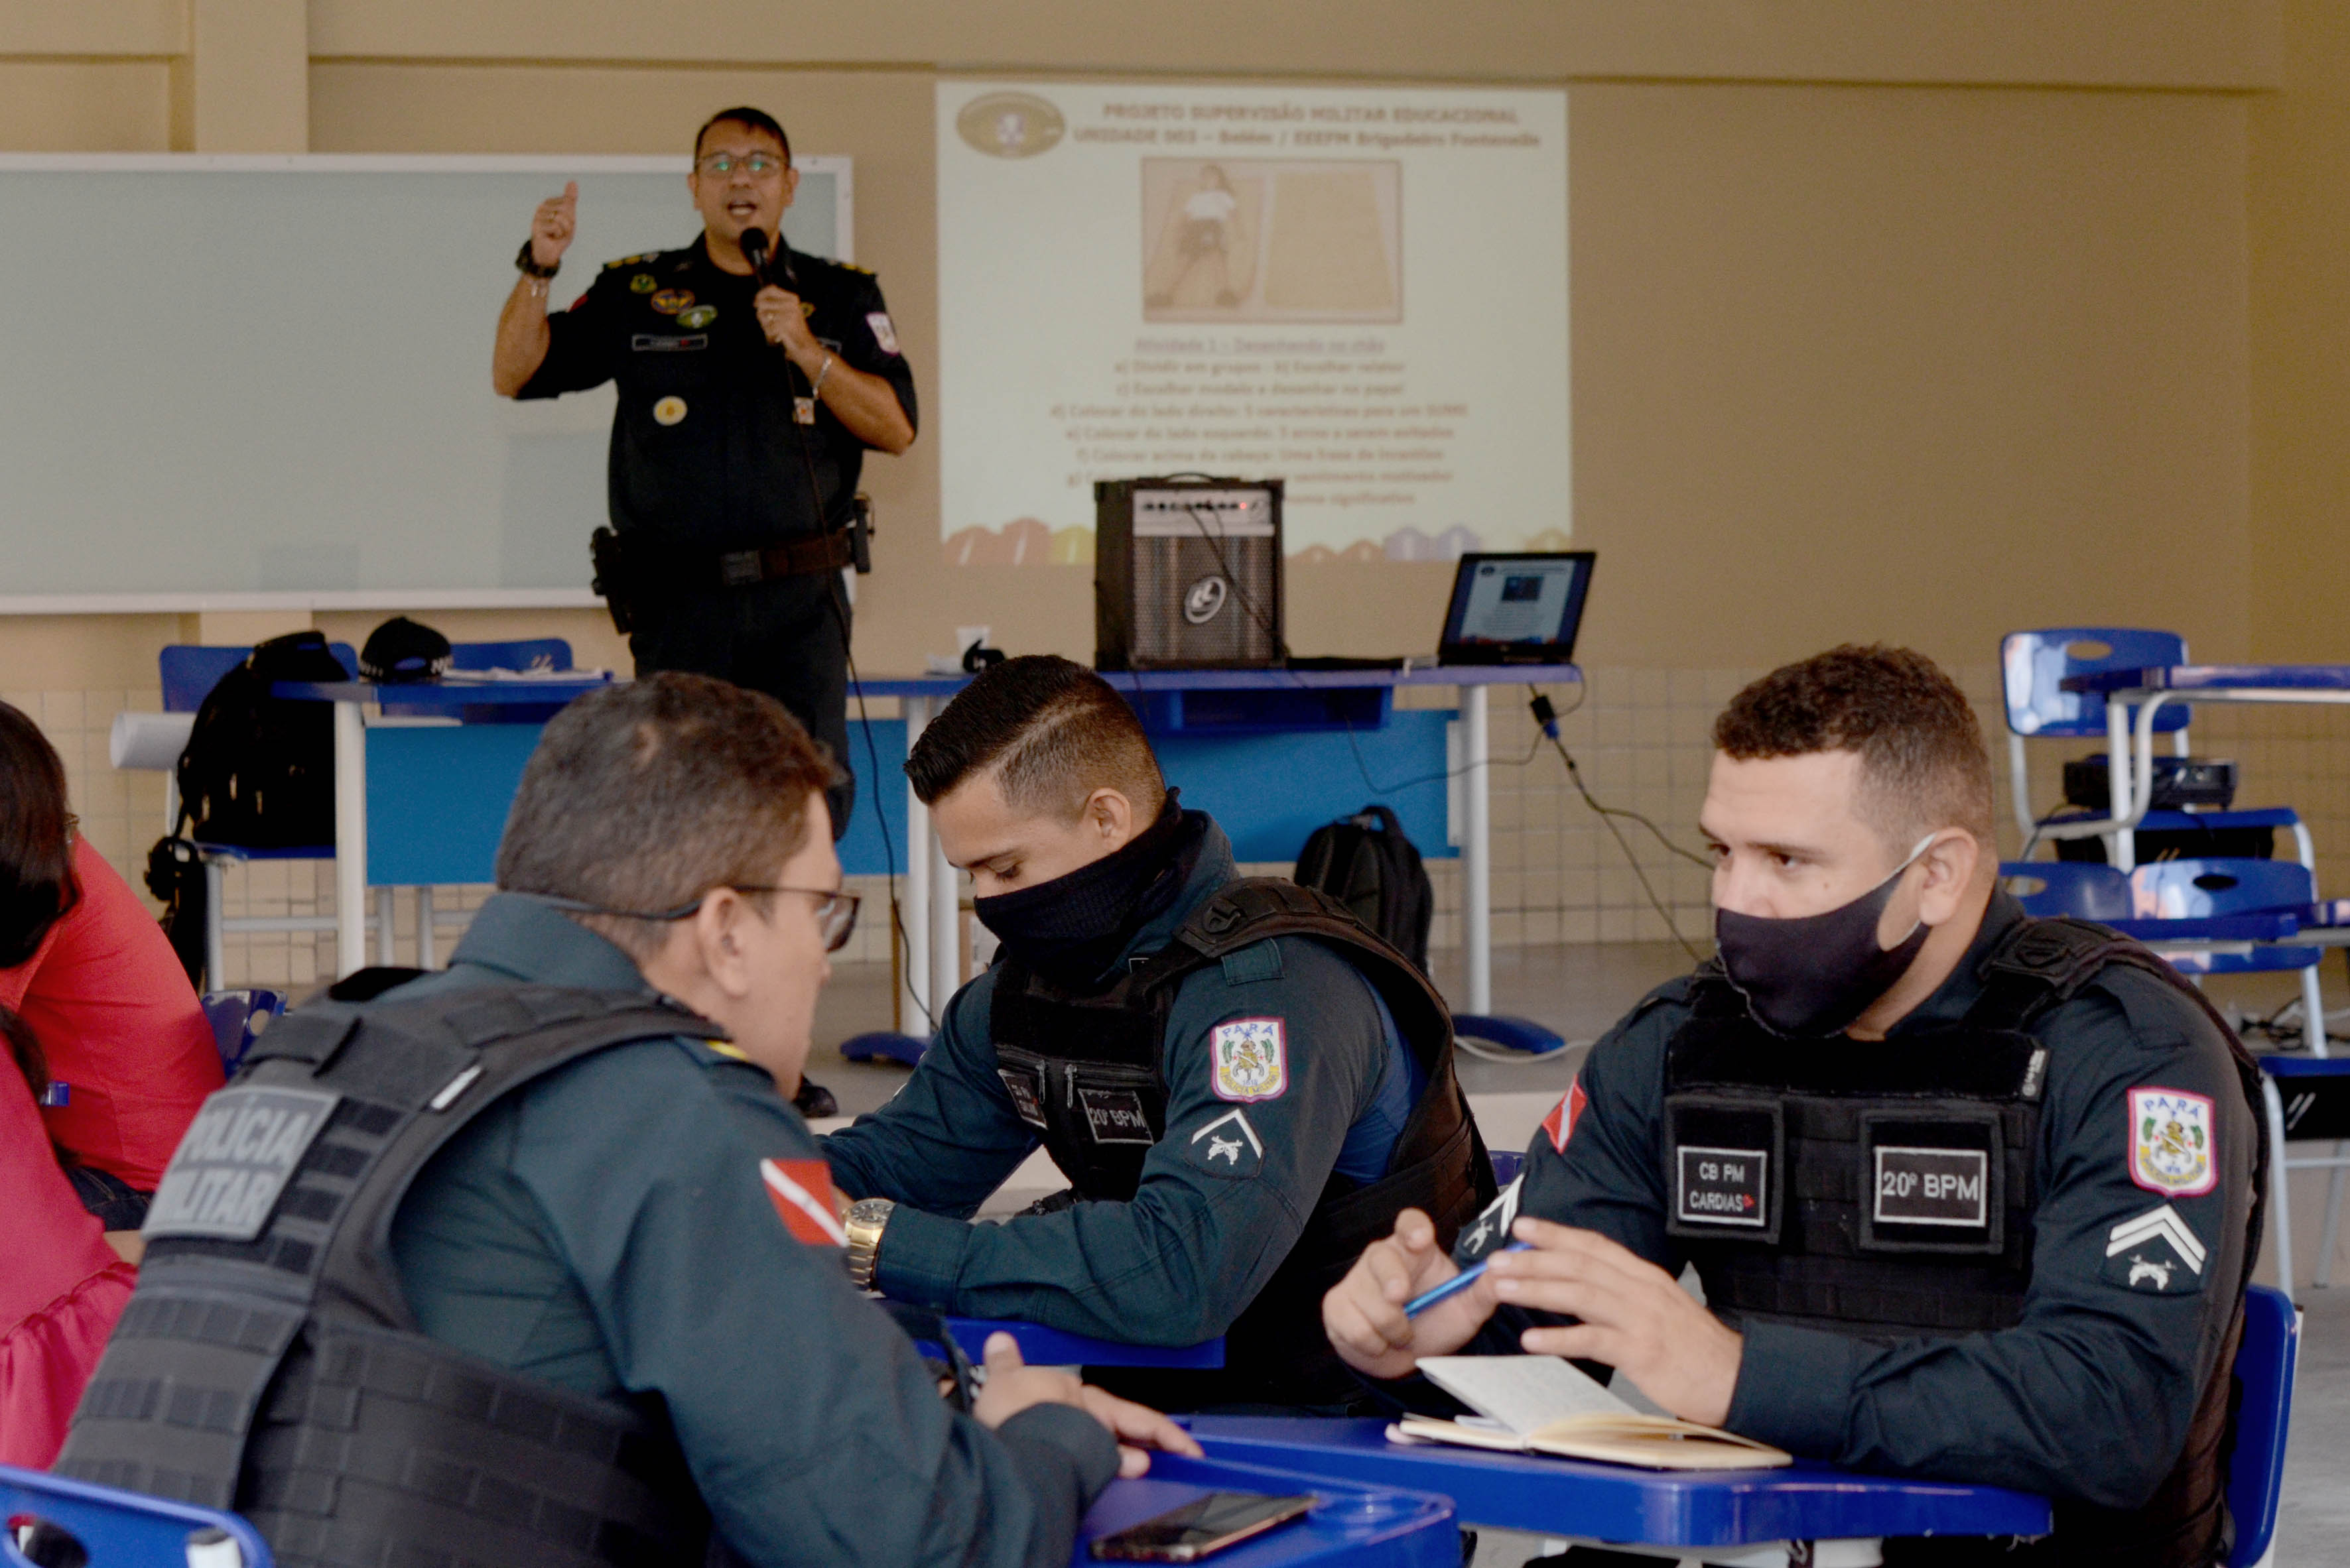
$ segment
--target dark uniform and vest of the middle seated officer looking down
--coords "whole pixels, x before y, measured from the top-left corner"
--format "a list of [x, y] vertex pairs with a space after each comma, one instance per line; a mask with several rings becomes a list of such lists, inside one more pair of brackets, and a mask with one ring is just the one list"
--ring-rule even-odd
[[[1398, 1209], [1450, 1239], [1492, 1195], [1452, 1019], [1342, 906], [1238, 880], [1224, 833], [1184, 824], [1182, 892], [1100, 988], [999, 962], [825, 1155], [846, 1192], [900, 1204], [888, 1296], [1142, 1345], [1224, 1333], [1222, 1373], [1095, 1373], [1161, 1408], [1344, 1404], [1323, 1293]], [[1039, 1145], [1074, 1202], [966, 1223]]]

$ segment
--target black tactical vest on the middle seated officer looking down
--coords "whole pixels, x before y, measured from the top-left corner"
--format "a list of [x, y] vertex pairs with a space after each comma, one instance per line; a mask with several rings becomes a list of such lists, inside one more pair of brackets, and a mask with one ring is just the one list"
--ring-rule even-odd
[[1358, 1385], [1330, 1350], [1321, 1298], [1370, 1242], [1389, 1235], [1401, 1209], [1424, 1209], [1438, 1242], [1452, 1246], [1452, 1235], [1495, 1197], [1492, 1160], [1452, 1075], [1452, 1014], [1443, 998], [1347, 906], [1281, 878], [1224, 885], [1166, 948], [1100, 993], [1065, 991], [1015, 960], [996, 969], [989, 1016], [996, 1070], [1074, 1197], [1135, 1197], [1142, 1160], [1166, 1134], [1161, 1047], [1175, 993], [1189, 974], [1274, 937], [1314, 937], [1340, 948], [1386, 1000], [1426, 1089], [1384, 1176], [1370, 1185], [1330, 1176], [1290, 1256], [1227, 1329], [1227, 1376], [1116, 1378], [1123, 1390], [1175, 1408], [1351, 1399]]

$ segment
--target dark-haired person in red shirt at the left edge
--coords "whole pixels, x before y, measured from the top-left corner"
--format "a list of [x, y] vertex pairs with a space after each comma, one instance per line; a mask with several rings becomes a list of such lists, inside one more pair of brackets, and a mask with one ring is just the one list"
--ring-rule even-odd
[[82, 1207], [139, 1230], [221, 1054], [162, 927], [73, 831], [56, 749], [5, 702], [0, 803], [0, 1007], [63, 1084], [40, 1120]]

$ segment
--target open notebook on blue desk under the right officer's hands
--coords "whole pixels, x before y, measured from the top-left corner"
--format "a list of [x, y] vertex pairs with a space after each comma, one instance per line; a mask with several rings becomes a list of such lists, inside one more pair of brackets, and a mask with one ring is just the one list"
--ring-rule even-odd
[[1419, 1371], [1476, 1415], [1405, 1415], [1394, 1444], [1558, 1453], [1650, 1469], [1770, 1469], [1793, 1458], [1751, 1437], [1645, 1415], [1558, 1357], [1422, 1357]]

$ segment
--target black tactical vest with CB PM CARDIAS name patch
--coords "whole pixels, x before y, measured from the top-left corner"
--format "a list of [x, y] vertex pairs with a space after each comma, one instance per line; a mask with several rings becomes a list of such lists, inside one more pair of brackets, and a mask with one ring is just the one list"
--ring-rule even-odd
[[[2258, 1066], [2204, 995], [2136, 941], [2084, 920], [2023, 920], [1983, 960], [1965, 1019], [1896, 1040], [1781, 1040], [1753, 1023], [1718, 962], [1699, 969], [1690, 1019], [1666, 1045], [1664, 1181], [1666, 1230], [1706, 1303], [1732, 1324], [1885, 1340], [2021, 1322], [2049, 1077], [2033, 1026], [2115, 965], [2193, 998], [2237, 1063], [2258, 1129], [2242, 1298], [2268, 1183]], [[2240, 1336], [2242, 1307], [2155, 1498], [2136, 1512], [2059, 1502], [2049, 1559], [2214, 1561]]]

